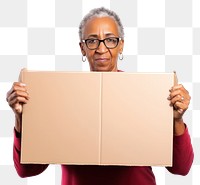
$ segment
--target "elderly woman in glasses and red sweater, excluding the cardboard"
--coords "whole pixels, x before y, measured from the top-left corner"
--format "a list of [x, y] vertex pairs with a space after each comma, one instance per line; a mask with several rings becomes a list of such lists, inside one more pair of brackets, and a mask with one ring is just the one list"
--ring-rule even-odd
[[[105, 8], [93, 9], [79, 27], [83, 62], [88, 60], [91, 71], [118, 72], [117, 60], [123, 59], [124, 32], [119, 17]], [[7, 93], [7, 101], [16, 117], [14, 131], [14, 163], [21, 177], [42, 173], [48, 165], [20, 164], [22, 104], [28, 103], [25, 84], [15, 82]], [[186, 175], [193, 161], [193, 149], [182, 116], [190, 103], [188, 91], [182, 85], [169, 90], [168, 100], [174, 107], [173, 166], [174, 174]], [[151, 167], [62, 165], [62, 185], [155, 185]]]

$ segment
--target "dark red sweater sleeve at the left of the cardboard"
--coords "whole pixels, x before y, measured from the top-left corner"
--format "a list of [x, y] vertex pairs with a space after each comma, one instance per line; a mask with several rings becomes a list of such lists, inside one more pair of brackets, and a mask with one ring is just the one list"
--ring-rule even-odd
[[18, 175], [22, 178], [35, 176], [42, 173], [48, 167], [48, 164], [21, 164], [20, 155], [21, 137], [19, 133], [14, 130], [13, 160]]

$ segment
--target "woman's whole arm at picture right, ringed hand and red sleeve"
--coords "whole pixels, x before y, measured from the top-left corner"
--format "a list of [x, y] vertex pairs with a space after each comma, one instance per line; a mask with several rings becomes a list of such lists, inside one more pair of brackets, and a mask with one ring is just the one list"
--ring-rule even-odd
[[188, 129], [182, 118], [190, 99], [189, 92], [183, 85], [176, 85], [170, 89], [168, 100], [174, 108], [173, 166], [167, 169], [178, 175], [187, 175], [194, 159]]

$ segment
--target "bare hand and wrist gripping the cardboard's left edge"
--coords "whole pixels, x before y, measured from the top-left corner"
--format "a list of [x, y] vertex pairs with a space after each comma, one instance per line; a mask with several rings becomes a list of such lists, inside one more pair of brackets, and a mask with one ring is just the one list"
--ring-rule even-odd
[[12, 88], [7, 92], [6, 100], [15, 113], [15, 129], [21, 133], [22, 105], [26, 104], [29, 100], [26, 85], [21, 82], [14, 82]]

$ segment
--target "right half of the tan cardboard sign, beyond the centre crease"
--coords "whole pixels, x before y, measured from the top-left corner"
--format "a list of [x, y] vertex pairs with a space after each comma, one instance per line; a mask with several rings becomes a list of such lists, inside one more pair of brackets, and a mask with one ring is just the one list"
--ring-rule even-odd
[[171, 165], [172, 74], [103, 74], [102, 164]]

